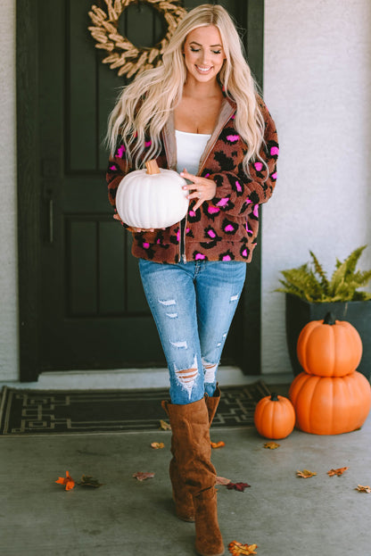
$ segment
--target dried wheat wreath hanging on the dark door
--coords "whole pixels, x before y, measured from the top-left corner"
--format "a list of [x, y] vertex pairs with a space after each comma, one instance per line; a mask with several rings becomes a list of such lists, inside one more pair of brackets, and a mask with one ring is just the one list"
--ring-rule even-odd
[[119, 32], [119, 18], [121, 13], [130, 4], [137, 4], [138, 0], [104, 0], [107, 4], [108, 13], [104, 12], [95, 4], [92, 5], [89, 16], [94, 26], [89, 27], [92, 37], [95, 38], [95, 48], [102, 48], [111, 54], [103, 59], [103, 63], [109, 63], [111, 70], [119, 68], [118, 74], [126, 74], [128, 78], [136, 73], [154, 68], [161, 64], [161, 55], [169, 38], [177, 29], [177, 24], [185, 15], [185, 9], [178, 5], [179, 0], [140, 0], [143, 4], [153, 6], [161, 12], [168, 23], [165, 37], [152, 48], [137, 48], [128, 38], [122, 37]]

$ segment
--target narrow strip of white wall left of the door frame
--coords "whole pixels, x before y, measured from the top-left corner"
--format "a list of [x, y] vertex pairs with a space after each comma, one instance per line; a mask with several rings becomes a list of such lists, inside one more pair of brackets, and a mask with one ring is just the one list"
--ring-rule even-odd
[[0, 17], [0, 380], [18, 378], [15, 0]]

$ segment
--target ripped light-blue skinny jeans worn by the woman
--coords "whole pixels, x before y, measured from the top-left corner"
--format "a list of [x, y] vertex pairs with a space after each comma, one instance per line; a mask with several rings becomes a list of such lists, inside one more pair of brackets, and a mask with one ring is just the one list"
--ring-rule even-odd
[[246, 275], [243, 261], [177, 264], [139, 259], [147, 302], [169, 368], [170, 399], [212, 396], [218, 362]]

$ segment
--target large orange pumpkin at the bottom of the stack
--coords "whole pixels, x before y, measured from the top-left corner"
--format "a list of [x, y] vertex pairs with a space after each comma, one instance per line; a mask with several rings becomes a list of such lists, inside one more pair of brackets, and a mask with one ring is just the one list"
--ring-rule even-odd
[[358, 371], [346, 377], [302, 372], [289, 391], [296, 427], [313, 435], [340, 435], [363, 425], [371, 406], [371, 387]]

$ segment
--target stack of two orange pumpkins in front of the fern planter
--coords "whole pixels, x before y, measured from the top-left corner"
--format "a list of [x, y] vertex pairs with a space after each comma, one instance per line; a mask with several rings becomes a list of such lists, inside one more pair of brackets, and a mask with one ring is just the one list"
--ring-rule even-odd
[[328, 313], [301, 330], [297, 353], [304, 371], [289, 391], [296, 427], [315, 435], [339, 435], [361, 427], [370, 410], [371, 387], [356, 370], [362, 356], [356, 328]]

